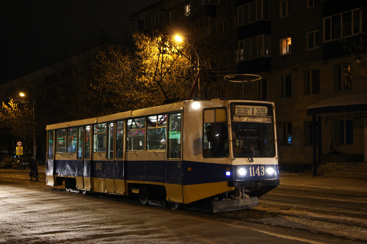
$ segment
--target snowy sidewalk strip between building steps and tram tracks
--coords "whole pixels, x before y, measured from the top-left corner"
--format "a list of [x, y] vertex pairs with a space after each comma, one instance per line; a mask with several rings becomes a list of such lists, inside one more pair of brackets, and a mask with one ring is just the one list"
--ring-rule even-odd
[[297, 173], [279, 172], [279, 187], [307, 188], [323, 191], [348, 192], [367, 195], [367, 179], [307, 176]]

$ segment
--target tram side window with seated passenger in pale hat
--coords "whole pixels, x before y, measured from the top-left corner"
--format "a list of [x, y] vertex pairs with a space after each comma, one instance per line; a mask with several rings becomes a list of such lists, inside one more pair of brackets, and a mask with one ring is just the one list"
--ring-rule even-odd
[[146, 150], [166, 150], [167, 115], [147, 118]]

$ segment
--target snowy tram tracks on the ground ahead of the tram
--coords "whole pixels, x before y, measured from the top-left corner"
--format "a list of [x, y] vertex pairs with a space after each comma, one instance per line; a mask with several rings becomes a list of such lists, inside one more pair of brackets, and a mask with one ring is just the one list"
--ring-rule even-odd
[[328, 204], [260, 199], [259, 206], [248, 213], [228, 213], [228, 217], [367, 243], [367, 211], [356, 211], [353, 204], [331, 207]]

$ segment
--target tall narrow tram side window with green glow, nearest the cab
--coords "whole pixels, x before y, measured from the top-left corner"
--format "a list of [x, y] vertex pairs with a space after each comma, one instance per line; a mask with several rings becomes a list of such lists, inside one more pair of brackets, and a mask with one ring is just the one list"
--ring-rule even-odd
[[181, 155], [181, 114], [168, 115], [167, 152], [169, 159], [179, 159]]

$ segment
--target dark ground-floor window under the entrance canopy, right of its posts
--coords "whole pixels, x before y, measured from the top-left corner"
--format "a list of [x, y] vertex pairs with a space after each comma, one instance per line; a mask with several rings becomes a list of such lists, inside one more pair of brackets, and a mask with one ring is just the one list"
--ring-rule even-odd
[[334, 136], [339, 145], [353, 144], [353, 120], [335, 120]]

